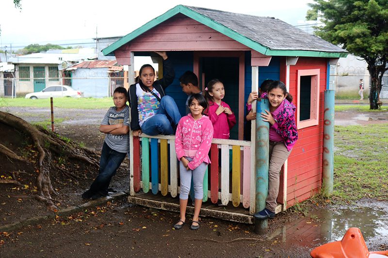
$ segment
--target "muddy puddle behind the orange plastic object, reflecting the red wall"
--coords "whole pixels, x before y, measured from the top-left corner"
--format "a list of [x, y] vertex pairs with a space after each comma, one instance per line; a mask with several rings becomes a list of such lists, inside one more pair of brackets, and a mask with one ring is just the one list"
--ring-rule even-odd
[[349, 228], [360, 228], [369, 251], [381, 251], [388, 244], [388, 207], [382, 203], [341, 207], [312, 212], [278, 228], [267, 237], [293, 249], [295, 245], [313, 249], [324, 243], [340, 241]]

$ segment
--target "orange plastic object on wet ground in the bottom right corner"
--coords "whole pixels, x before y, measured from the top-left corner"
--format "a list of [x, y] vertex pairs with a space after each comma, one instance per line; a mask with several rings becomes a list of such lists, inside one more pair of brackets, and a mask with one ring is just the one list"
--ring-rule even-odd
[[341, 241], [318, 246], [310, 253], [312, 258], [384, 258], [387, 251], [369, 252], [359, 228], [349, 228]]

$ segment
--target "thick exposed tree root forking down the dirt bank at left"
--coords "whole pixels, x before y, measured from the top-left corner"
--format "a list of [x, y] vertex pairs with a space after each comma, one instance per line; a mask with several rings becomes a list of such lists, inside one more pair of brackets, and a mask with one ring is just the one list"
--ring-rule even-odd
[[[76, 146], [76, 144], [72, 142], [65, 142], [61, 140], [57, 134], [49, 132], [43, 127], [34, 127], [29, 122], [2, 111], [0, 111], [0, 121], [20, 132], [25, 133], [27, 136], [30, 136], [34, 147], [38, 151], [37, 166], [39, 174], [36, 179], [38, 195], [35, 196], [35, 199], [40, 202], [44, 202], [49, 210], [53, 211], [57, 209], [53, 203], [51, 195], [58, 195], [53, 189], [50, 180], [49, 167], [51, 164], [51, 153], [57, 153], [60, 156], [77, 159], [95, 167], [99, 166], [96, 152]], [[3, 153], [14, 160], [26, 161], [4, 145], [0, 145], [0, 153]], [[89, 154], [92, 158], [90, 159], [86, 156], [87, 154]], [[72, 176], [75, 177], [75, 175]]]

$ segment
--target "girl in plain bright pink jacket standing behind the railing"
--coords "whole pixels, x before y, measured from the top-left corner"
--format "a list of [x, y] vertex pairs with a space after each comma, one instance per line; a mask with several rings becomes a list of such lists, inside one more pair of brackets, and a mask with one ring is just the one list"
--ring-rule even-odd
[[209, 102], [207, 115], [214, 127], [214, 138], [229, 139], [230, 129], [236, 124], [236, 117], [222, 99], [225, 96], [224, 84], [213, 79], [205, 88], [204, 95]]

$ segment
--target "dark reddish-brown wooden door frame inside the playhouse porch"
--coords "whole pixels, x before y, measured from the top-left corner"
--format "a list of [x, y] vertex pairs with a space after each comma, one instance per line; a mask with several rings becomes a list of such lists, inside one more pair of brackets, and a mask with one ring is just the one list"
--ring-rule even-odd
[[[236, 57], [239, 59], [239, 140], [244, 137], [244, 90], [245, 90], [245, 52], [244, 51], [194, 51], [193, 72], [200, 78], [204, 78], [204, 75], [199, 75], [200, 62], [203, 57]], [[202, 91], [205, 90], [202, 79]]]

